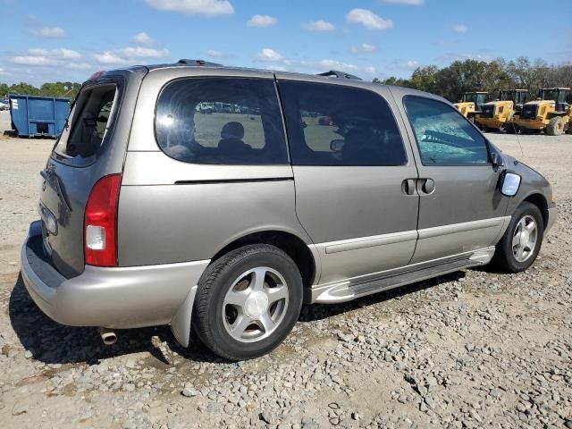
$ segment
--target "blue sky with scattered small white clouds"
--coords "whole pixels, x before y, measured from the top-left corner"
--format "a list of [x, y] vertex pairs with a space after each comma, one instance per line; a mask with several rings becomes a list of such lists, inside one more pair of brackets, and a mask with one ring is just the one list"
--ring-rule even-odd
[[408, 77], [417, 65], [572, 60], [570, 0], [0, 0], [0, 81], [202, 58], [275, 70]]

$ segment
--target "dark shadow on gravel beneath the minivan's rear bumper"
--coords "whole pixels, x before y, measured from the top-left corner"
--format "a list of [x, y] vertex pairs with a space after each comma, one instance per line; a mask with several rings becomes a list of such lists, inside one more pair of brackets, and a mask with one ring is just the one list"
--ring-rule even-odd
[[[21, 275], [14, 284], [9, 302], [10, 322], [24, 349], [46, 364], [97, 364], [100, 359], [147, 351], [157, 367], [171, 365], [172, 352], [200, 362], [220, 362], [198, 340], [183, 349], [168, 326], [117, 330], [118, 341], [105, 346], [96, 328], [58, 324], [44, 315], [29, 297]], [[158, 341], [153, 337], [157, 337]], [[162, 344], [166, 342], [166, 347]], [[164, 349], [164, 351], [162, 351]]]

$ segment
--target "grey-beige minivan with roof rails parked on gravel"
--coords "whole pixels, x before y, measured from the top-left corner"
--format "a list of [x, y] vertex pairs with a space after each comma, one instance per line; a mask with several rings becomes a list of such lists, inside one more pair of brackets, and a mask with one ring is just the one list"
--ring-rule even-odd
[[442, 97], [181, 60], [98, 72], [41, 172], [21, 250], [61, 324], [191, 328], [231, 360], [267, 353], [302, 303], [475, 265], [534, 263], [550, 184]]

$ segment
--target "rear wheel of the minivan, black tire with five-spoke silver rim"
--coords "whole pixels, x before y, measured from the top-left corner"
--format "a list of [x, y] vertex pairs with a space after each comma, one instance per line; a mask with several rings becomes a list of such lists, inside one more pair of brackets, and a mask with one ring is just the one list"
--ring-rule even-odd
[[[237, 248], [201, 276], [193, 327], [220, 357], [259, 357], [290, 333], [299, 318], [302, 295], [298, 266], [281, 249], [267, 244]], [[272, 301], [279, 296], [283, 298]]]

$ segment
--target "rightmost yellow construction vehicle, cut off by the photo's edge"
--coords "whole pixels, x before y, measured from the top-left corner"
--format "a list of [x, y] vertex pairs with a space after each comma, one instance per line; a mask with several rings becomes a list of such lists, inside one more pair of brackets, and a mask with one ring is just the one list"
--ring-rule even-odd
[[523, 134], [544, 130], [549, 136], [572, 131], [572, 91], [570, 88], [543, 88], [538, 99], [523, 106], [513, 121]]

